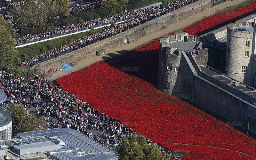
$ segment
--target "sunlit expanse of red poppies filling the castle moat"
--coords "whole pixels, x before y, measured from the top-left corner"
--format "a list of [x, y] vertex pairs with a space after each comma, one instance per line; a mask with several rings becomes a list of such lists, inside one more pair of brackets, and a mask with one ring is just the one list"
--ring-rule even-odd
[[[252, 8], [249, 6], [247, 12]], [[243, 7], [241, 12], [244, 10], [246, 8]], [[204, 25], [198, 22], [193, 25], [195, 27], [190, 26], [184, 31], [198, 35], [213, 27], [212, 20], [209, 18], [208, 23], [204, 21]], [[216, 24], [224, 21], [222, 18]], [[157, 54], [158, 49], [159, 39], [156, 39], [131, 52], [147, 52], [150, 55]], [[182, 157], [184, 159], [256, 160], [255, 139], [113, 66], [108, 61], [97, 62], [56, 81], [66, 91], [168, 150], [187, 153]]]

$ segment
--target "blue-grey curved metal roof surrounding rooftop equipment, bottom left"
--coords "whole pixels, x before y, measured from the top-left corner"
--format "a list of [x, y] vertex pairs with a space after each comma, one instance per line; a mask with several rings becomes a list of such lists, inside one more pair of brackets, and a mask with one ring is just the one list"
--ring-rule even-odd
[[[65, 144], [73, 144], [79, 148], [77, 152], [85, 152], [85, 156], [77, 156], [78, 154], [72, 153], [72, 149], [57, 150], [51, 151], [50, 154], [54, 159], [59, 160], [117, 160], [116, 153], [104, 146], [95, 140], [90, 139], [81, 132], [78, 132], [74, 129], [68, 128], [55, 128], [41, 131], [25, 132], [19, 133], [18, 137], [30, 138], [30, 137], [39, 137], [47, 136], [50, 138], [60, 138]], [[73, 149], [74, 151], [74, 149]]]

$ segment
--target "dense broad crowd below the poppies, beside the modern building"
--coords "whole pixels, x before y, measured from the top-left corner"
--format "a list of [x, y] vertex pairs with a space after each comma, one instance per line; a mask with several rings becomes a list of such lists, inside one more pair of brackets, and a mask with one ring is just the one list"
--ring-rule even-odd
[[[34, 78], [29, 78], [26, 82], [24, 77], [16, 78], [0, 70], [0, 89], [7, 95], [7, 100], [4, 102], [5, 107], [11, 103], [20, 104], [20, 107], [26, 110], [26, 115], [31, 112], [27, 108], [36, 108], [37, 116], [47, 117], [44, 120], [49, 128], [52, 123], [51, 117], [54, 117], [58, 121], [53, 122], [51, 128], [73, 128], [110, 149], [112, 149], [111, 146], [118, 147], [122, 144], [122, 137], [138, 134], [37, 75]], [[102, 137], [92, 134], [92, 130], [102, 132]], [[148, 145], [152, 144], [150, 140], [147, 141]], [[163, 147], [159, 146], [159, 149], [163, 156], [169, 153], [173, 159], [181, 160], [179, 156], [175, 156]]]

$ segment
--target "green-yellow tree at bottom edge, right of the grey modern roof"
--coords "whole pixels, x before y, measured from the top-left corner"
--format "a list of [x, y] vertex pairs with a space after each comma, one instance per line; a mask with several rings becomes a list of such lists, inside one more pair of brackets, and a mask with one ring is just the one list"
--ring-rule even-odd
[[121, 147], [118, 149], [120, 160], [160, 160], [162, 154], [155, 143], [148, 146], [146, 138], [142, 135], [130, 135], [124, 137]]

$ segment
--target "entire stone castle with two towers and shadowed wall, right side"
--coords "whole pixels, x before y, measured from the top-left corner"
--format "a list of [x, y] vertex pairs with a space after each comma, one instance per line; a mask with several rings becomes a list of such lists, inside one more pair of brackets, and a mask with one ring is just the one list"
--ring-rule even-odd
[[[198, 37], [178, 32], [160, 38], [158, 88], [224, 122], [243, 124], [238, 127], [242, 131], [247, 131], [249, 115], [255, 126], [255, 18], [253, 14]], [[210, 53], [208, 47], [217, 50]], [[221, 50], [225, 74], [210, 67], [211, 57]], [[249, 131], [256, 134], [255, 127]]]

